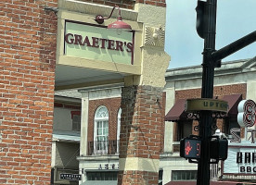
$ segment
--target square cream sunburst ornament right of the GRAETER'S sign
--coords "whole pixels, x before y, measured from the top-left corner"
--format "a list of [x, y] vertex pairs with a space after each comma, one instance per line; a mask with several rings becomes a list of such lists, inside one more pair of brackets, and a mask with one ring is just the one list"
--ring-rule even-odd
[[162, 27], [145, 27], [145, 45], [164, 46], [165, 31]]

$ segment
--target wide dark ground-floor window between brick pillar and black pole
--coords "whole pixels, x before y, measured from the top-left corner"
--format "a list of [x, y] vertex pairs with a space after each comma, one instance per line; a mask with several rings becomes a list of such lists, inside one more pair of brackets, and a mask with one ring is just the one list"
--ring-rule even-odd
[[172, 180], [173, 181], [189, 181], [189, 180], [197, 180], [198, 171], [196, 170], [178, 170], [172, 172]]

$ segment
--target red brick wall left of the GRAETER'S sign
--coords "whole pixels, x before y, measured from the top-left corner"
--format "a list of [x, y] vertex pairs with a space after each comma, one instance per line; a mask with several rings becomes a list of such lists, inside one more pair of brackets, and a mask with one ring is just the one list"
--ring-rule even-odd
[[50, 184], [57, 2], [0, 2], [0, 184]]

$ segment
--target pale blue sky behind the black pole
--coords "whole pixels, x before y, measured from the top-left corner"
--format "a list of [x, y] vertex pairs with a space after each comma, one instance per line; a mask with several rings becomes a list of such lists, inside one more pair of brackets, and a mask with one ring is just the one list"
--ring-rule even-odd
[[[171, 56], [169, 68], [202, 63], [203, 39], [196, 31], [197, 0], [167, 0], [165, 51]], [[218, 0], [216, 49], [256, 31], [256, 0]], [[224, 61], [256, 56], [256, 43]]]

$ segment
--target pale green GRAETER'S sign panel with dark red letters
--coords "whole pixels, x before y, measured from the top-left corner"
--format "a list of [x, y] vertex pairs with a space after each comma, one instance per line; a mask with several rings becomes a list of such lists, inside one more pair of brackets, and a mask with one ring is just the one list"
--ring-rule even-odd
[[108, 30], [105, 27], [66, 20], [64, 55], [131, 65], [134, 58], [134, 31]]

